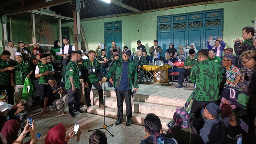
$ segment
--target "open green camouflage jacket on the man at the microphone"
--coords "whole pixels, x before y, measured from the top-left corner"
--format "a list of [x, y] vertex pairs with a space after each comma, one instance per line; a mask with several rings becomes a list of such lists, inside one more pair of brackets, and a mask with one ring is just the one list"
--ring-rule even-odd
[[[119, 58], [114, 62], [114, 64], [110, 67], [108, 74], [106, 77], [109, 79], [111, 74], [115, 72], [114, 75], [114, 88], [120, 88], [120, 82], [122, 78], [122, 71], [123, 71], [123, 59]], [[128, 66], [128, 86], [129, 90], [132, 89], [132, 85], [134, 85], [134, 88], [139, 88], [138, 85], [138, 73], [136, 72], [136, 66], [135, 63], [131, 60], [129, 60], [129, 66]]]

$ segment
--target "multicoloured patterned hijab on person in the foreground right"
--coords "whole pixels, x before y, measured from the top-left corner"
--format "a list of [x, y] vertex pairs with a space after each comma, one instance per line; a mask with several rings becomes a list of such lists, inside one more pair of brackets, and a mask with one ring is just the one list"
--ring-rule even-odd
[[195, 134], [197, 134], [195, 128], [189, 123], [189, 114], [186, 112], [186, 110], [182, 108], [177, 108], [173, 115], [173, 122], [168, 124], [168, 127], [170, 128], [168, 132], [172, 132], [171, 128], [173, 126], [178, 126], [181, 128], [191, 128]]

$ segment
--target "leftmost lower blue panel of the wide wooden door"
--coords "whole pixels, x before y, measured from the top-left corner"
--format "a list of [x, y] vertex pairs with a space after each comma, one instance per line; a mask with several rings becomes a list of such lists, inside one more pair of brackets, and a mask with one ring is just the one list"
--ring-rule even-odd
[[163, 56], [166, 52], [166, 50], [169, 48], [170, 39], [171, 39], [171, 32], [161, 32], [160, 33], [160, 40], [159, 40], [159, 46], [162, 47], [162, 54]]

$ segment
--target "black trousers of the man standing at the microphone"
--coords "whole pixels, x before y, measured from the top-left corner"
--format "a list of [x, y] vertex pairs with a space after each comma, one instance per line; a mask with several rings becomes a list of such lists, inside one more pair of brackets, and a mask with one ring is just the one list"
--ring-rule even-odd
[[117, 90], [116, 91], [116, 100], [117, 100], [117, 117], [123, 118], [123, 107], [124, 100], [126, 104], [126, 117], [132, 117], [132, 90]]

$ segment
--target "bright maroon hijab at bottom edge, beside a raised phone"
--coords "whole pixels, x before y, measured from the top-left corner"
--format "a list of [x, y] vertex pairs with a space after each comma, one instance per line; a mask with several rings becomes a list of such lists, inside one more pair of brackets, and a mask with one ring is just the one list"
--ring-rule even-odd
[[45, 138], [45, 144], [67, 144], [65, 142], [66, 129], [62, 123], [51, 128]]

